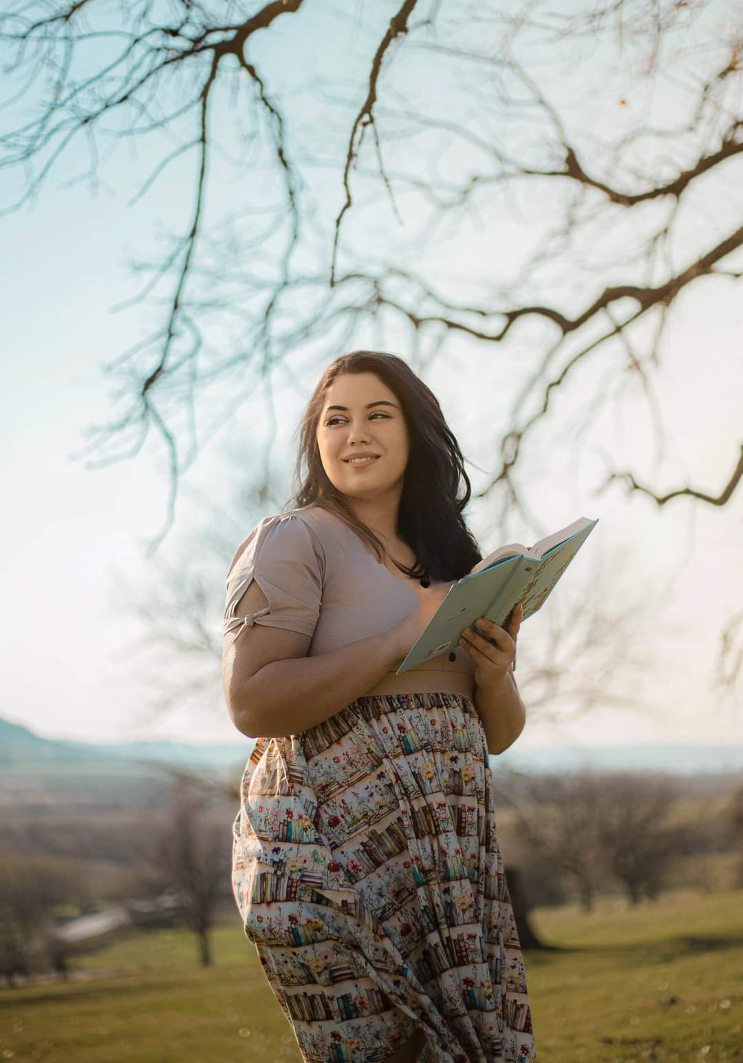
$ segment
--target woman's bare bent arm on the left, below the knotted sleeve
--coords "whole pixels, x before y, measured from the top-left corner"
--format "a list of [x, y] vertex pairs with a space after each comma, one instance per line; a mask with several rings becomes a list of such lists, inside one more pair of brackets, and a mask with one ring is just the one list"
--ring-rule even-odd
[[[394, 671], [438, 609], [449, 585], [381, 635], [307, 657], [310, 637], [254, 624], [224, 641], [222, 684], [233, 723], [250, 738], [295, 735], [361, 697]], [[267, 605], [252, 581], [238, 613]]]

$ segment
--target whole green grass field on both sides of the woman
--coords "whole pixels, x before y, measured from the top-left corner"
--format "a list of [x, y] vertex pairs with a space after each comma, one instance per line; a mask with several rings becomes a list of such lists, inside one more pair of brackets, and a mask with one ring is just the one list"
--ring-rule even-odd
[[[533, 921], [556, 946], [525, 957], [540, 1063], [743, 1061], [743, 891]], [[103, 977], [0, 991], [0, 1060], [299, 1061], [239, 917], [213, 944], [204, 969], [187, 931], [136, 934], [77, 960]]]

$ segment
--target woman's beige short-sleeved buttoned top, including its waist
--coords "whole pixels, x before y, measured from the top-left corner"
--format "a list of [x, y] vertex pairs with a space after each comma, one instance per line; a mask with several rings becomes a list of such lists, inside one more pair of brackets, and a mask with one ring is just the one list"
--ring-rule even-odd
[[[236, 615], [253, 579], [268, 605]], [[265, 517], [238, 547], [226, 578], [224, 635], [237, 639], [253, 624], [301, 631], [310, 636], [311, 657], [389, 630], [426, 593], [418, 580], [392, 575], [335, 513], [304, 506]], [[359, 696], [444, 691], [473, 697], [473, 671], [472, 658], [457, 646], [402, 675], [388, 672]]]

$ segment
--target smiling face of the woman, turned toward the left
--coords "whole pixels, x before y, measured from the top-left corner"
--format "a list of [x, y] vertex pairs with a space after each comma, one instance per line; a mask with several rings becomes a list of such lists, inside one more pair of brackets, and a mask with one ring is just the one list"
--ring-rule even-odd
[[[394, 392], [376, 373], [341, 373], [335, 378], [325, 394], [317, 441], [325, 474], [343, 494], [371, 499], [398, 484], [402, 488], [409, 454], [407, 425]], [[376, 457], [348, 460], [361, 454]]]

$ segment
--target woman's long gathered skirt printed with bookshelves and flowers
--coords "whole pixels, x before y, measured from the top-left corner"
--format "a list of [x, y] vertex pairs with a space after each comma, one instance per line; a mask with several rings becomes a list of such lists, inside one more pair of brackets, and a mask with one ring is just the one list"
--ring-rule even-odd
[[364, 696], [256, 741], [233, 828], [246, 935], [307, 1063], [536, 1063], [474, 703]]

